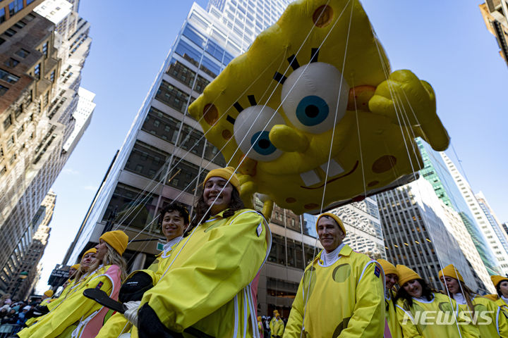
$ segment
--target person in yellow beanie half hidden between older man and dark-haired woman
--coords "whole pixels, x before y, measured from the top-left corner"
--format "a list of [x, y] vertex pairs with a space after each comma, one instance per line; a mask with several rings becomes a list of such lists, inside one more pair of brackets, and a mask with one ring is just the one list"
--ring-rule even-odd
[[[392, 338], [402, 338], [402, 328], [397, 318], [397, 309], [395, 306], [395, 296], [393, 293], [394, 285], [399, 282], [399, 275], [397, 275], [397, 268], [385, 259], [378, 259], [377, 262], [381, 264], [385, 272], [385, 310], [388, 329]], [[385, 332], [387, 333], [387, 332]]]

